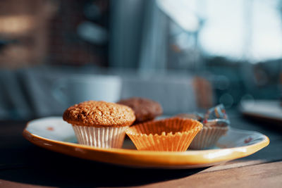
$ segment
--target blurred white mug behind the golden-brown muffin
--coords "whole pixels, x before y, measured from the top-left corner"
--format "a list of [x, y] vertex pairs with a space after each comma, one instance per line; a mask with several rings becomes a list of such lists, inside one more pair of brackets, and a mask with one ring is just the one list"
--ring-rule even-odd
[[116, 102], [121, 84], [121, 77], [114, 75], [72, 75], [56, 80], [52, 93], [66, 106], [90, 100]]

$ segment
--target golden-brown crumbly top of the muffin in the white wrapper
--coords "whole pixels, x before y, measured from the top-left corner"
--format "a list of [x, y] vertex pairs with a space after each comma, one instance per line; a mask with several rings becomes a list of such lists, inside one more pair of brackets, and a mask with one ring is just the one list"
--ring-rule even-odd
[[121, 104], [85, 101], [66, 109], [63, 120], [73, 125], [121, 127], [132, 125], [135, 115], [131, 108]]

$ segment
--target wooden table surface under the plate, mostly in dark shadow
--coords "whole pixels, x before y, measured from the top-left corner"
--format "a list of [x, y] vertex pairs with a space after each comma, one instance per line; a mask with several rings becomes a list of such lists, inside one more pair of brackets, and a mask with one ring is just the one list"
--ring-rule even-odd
[[[229, 114], [229, 113], [228, 113]], [[26, 122], [0, 122], [0, 187], [282, 187], [282, 125], [229, 115], [232, 127], [270, 139], [257, 153], [209, 168], [126, 168], [47, 151], [22, 137]]]

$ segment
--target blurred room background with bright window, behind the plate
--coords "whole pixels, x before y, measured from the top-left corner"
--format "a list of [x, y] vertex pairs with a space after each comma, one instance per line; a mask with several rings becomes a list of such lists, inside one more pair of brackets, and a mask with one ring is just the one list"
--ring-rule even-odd
[[281, 99], [281, 0], [1, 0], [0, 120], [142, 96], [165, 115]]

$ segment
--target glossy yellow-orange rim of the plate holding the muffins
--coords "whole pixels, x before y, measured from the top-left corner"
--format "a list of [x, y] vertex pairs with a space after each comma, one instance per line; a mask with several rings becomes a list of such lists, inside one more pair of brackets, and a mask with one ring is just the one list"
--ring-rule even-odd
[[[45, 118], [61, 117], [51, 116]], [[262, 134], [262, 136], [264, 136], [264, 139], [260, 142], [248, 146], [239, 146], [227, 149], [193, 150], [185, 152], [103, 149], [82, 144], [48, 139], [37, 134], [33, 134], [27, 130], [27, 127], [28, 125], [30, 125], [30, 123], [35, 120], [42, 119], [44, 118], [30, 120], [25, 125], [25, 129], [23, 130], [23, 137], [25, 137], [25, 139], [27, 139], [32, 144], [40, 146], [44, 149], [63, 153], [68, 156], [137, 168], [200, 168], [204, 166], [214, 165], [215, 163], [219, 162], [231, 161], [236, 158], [250, 156], [252, 153], [255, 153], [269, 145], [269, 138], [266, 135], [256, 131], [242, 130]], [[232, 129], [240, 131], [239, 129]], [[225, 153], [225, 155], [222, 155], [220, 153]], [[187, 158], [189, 158], [190, 160], [187, 160]]]

